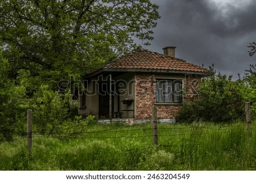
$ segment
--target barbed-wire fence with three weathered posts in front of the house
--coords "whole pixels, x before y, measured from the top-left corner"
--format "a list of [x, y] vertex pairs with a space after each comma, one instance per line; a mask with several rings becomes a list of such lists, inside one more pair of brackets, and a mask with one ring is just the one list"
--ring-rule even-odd
[[[30, 111], [31, 112], [31, 111]], [[247, 121], [247, 116], [250, 113], [250, 108], [246, 109], [246, 122], [247, 122], [247, 136], [251, 137], [251, 130], [248, 132], [248, 126], [250, 126], [251, 121]], [[153, 113], [154, 115], [154, 113]], [[31, 118], [29, 118], [31, 117]], [[28, 115], [28, 122], [32, 122], [32, 115]], [[248, 124], [249, 123], [249, 124]], [[28, 126], [31, 123], [28, 123]], [[222, 134], [232, 133], [232, 125], [221, 124], [221, 125], [202, 125], [202, 124], [171, 124], [170, 122], [157, 122], [156, 116], [152, 117], [151, 123], [143, 124], [98, 124], [93, 127], [78, 128], [79, 130], [72, 131], [59, 131], [59, 132], [49, 132], [42, 133], [40, 130], [32, 131], [27, 130], [26, 133], [22, 133], [20, 136], [14, 135], [13, 140], [25, 140], [27, 139], [28, 149], [32, 147], [32, 139], [37, 138], [58, 138], [58, 139], [114, 139], [116, 142], [121, 142], [119, 139], [138, 139], [143, 140], [148, 143], [153, 143], [154, 145], [160, 146], [181, 146], [179, 143], [184, 138], [194, 138], [199, 139], [205, 137], [220, 136]], [[204, 143], [190, 143], [191, 145], [204, 145]]]

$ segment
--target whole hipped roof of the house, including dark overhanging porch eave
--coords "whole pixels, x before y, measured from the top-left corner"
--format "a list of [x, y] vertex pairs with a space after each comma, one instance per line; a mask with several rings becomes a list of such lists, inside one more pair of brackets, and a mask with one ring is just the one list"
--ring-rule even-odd
[[141, 47], [118, 57], [100, 69], [85, 75], [85, 77], [92, 77], [93, 75], [100, 74], [104, 71], [143, 71], [152, 73], [162, 72], [210, 75], [209, 70], [201, 66], [190, 64], [179, 58], [151, 52], [147, 49], [142, 49]]

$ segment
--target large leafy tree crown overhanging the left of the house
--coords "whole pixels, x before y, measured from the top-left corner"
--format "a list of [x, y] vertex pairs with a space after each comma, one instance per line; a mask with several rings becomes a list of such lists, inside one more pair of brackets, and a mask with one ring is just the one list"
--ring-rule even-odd
[[127, 52], [134, 37], [152, 40], [157, 9], [150, 0], [0, 1], [0, 41], [14, 78], [25, 69], [59, 81]]

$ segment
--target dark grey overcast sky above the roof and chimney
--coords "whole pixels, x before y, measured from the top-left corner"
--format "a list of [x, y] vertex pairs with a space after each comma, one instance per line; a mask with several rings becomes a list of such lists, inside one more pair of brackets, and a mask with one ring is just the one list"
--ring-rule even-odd
[[176, 57], [209, 67], [221, 74], [243, 75], [256, 55], [247, 45], [256, 41], [255, 0], [158, 0], [161, 18], [154, 40], [143, 48], [163, 53], [177, 46]]

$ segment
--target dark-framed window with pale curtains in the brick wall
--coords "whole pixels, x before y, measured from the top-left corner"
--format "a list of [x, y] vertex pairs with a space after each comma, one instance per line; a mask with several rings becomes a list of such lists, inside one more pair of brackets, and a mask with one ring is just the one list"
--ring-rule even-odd
[[156, 102], [181, 103], [181, 80], [157, 80]]

